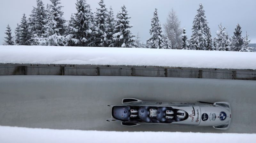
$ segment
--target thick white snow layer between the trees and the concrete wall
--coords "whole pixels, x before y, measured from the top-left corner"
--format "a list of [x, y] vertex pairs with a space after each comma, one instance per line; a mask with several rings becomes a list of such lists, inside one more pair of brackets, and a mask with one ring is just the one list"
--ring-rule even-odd
[[255, 70], [256, 53], [143, 48], [0, 46], [0, 63], [132, 65]]

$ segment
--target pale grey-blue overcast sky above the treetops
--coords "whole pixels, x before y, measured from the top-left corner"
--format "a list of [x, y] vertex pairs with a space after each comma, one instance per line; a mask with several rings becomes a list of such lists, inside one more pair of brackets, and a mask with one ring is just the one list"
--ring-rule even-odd
[[[50, 3], [43, 0], [44, 4]], [[64, 6], [64, 18], [70, 19], [71, 13], [76, 12], [76, 0], [61, 0]], [[94, 12], [98, 7], [99, 0], [87, 0]], [[116, 13], [125, 4], [130, 13], [132, 32], [139, 32], [141, 40], [146, 42], [150, 38], [149, 29], [151, 28], [151, 18], [155, 8], [158, 9], [159, 19], [163, 25], [168, 16], [168, 12], [173, 8], [181, 21], [181, 28], [187, 29], [188, 38], [191, 36], [192, 22], [196, 15], [198, 5], [204, 5], [205, 15], [209, 22], [213, 37], [218, 30], [218, 24], [227, 27], [228, 34], [233, 35], [236, 24], [242, 26], [243, 36], [247, 31], [252, 39], [251, 43], [256, 43], [256, 16], [255, 0], [105, 0], [107, 8], [112, 5]], [[36, 0], [0, 0], [0, 44], [4, 39], [4, 32], [9, 23], [12, 34], [16, 24], [20, 22], [22, 14], [29, 15], [32, 6], [36, 6]]]

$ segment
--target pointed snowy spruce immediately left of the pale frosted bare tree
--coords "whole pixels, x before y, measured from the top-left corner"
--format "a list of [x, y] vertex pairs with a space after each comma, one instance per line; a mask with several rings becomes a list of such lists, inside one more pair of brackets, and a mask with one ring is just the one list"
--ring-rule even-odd
[[149, 33], [152, 37], [147, 40], [148, 48], [166, 49], [164, 35], [162, 34], [162, 26], [158, 19], [157, 9], [154, 12], [153, 19], [151, 19], [151, 29]]

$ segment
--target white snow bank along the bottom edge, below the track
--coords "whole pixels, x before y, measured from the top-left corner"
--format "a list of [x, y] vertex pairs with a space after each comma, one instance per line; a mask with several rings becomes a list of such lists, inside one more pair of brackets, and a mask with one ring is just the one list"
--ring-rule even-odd
[[29, 129], [0, 126], [3, 143], [241, 143], [253, 142], [256, 134], [182, 133], [182, 132], [102, 132], [78, 130]]

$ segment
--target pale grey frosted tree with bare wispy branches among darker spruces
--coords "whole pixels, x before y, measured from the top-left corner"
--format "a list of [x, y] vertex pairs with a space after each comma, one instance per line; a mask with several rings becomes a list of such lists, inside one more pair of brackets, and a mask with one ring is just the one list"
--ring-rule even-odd
[[182, 29], [180, 28], [178, 16], [173, 9], [169, 12], [169, 16], [164, 24], [164, 30], [172, 43], [172, 49], [180, 49]]

